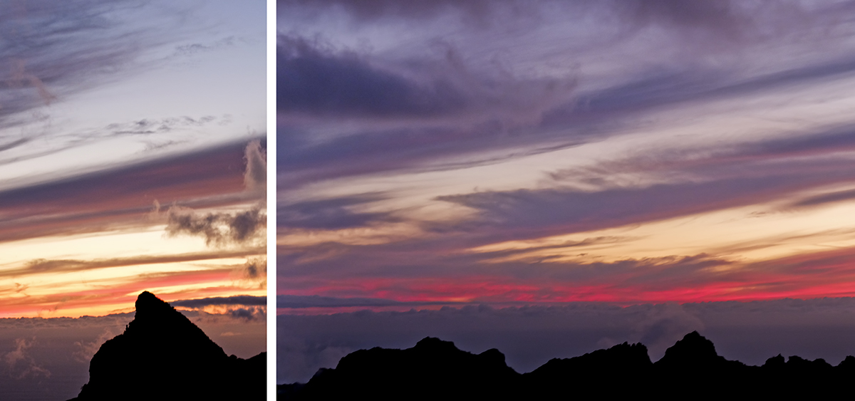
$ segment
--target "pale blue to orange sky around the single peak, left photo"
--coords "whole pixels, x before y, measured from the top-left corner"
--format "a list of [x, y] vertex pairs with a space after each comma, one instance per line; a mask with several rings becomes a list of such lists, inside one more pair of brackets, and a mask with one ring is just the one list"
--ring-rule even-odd
[[267, 4], [0, 8], [4, 392], [74, 397], [144, 291], [264, 351]]

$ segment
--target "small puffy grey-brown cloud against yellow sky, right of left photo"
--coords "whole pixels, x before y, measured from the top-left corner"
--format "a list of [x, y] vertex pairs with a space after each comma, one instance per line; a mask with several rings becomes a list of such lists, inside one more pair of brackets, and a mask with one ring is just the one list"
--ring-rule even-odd
[[236, 213], [197, 213], [181, 206], [167, 210], [166, 233], [169, 236], [203, 237], [206, 245], [242, 245], [263, 239], [267, 214], [260, 208]]

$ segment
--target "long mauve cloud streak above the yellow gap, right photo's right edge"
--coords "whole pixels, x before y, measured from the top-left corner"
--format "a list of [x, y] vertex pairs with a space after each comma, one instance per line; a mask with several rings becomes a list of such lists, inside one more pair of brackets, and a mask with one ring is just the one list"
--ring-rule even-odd
[[[477, 210], [459, 227], [504, 239], [575, 233], [764, 204], [799, 192], [855, 180], [846, 152], [855, 150], [851, 127], [796, 138], [764, 139], [722, 148], [638, 150], [593, 165], [548, 172], [539, 189], [479, 191], [435, 200]], [[852, 198], [848, 191], [792, 200], [811, 206]]]

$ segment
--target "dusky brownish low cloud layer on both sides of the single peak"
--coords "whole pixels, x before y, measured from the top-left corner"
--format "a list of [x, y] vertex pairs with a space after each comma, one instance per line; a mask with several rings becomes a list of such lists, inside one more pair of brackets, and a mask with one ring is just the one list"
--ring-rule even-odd
[[[181, 310], [227, 355], [249, 358], [266, 349], [262, 311], [211, 314]], [[100, 345], [122, 333], [133, 312], [80, 318], [0, 319], [0, 387], [4, 399], [74, 398], [89, 380]], [[48, 375], [50, 374], [50, 375]]]

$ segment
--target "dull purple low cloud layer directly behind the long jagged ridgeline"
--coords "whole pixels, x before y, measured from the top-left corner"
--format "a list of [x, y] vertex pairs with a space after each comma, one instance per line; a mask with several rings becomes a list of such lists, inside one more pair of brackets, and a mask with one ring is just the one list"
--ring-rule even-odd
[[481, 352], [498, 348], [511, 368], [529, 372], [553, 357], [576, 357], [624, 341], [645, 344], [653, 361], [698, 330], [719, 355], [761, 365], [781, 353], [837, 364], [855, 350], [846, 316], [853, 298], [701, 304], [572, 303], [492, 308], [277, 316], [277, 382], [305, 382], [340, 357], [375, 346], [410, 348], [427, 336]]

